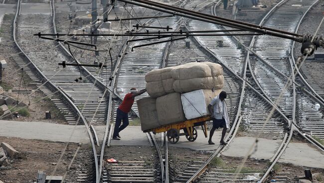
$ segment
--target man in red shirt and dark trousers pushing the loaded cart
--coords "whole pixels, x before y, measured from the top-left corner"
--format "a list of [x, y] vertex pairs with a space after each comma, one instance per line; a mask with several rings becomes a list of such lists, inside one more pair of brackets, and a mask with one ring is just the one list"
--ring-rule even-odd
[[[137, 91], [136, 88], [132, 88], [130, 93], [127, 93], [124, 97], [123, 102], [117, 108], [117, 116], [115, 122], [115, 129], [113, 134], [113, 140], [120, 140], [119, 132], [124, 130], [128, 124], [128, 113], [131, 111], [132, 105], [135, 100], [135, 96], [141, 95], [146, 89]], [[121, 125], [123, 121], [123, 124]]]

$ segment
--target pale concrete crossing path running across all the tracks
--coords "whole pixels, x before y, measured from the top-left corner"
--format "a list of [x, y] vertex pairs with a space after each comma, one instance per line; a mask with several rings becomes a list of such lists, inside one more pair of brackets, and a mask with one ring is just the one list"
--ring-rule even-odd
[[[25, 121], [9, 121], [0, 120], [0, 136], [15, 137], [23, 139], [38, 139], [54, 142], [67, 142], [75, 126], [55, 124], [47, 122], [25, 122]], [[94, 126], [99, 139], [103, 139], [105, 126]], [[168, 144], [169, 147], [189, 148], [195, 151], [213, 151], [218, 148], [218, 140], [221, 136], [221, 131], [215, 131], [213, 141], [216, 145], [208, 145], [208, 139], [204, 137], [201, 130], [198, 131], [198, 138], [194, 142], [188, 142], [185, 137], [181, 136], [176, 144]], [[120, 133], [122, 140], [112, 140], [111, 146], [150, 146], [147, 136], [142, 132], [140, 126], [128, 126]], [[161, 141], [161, 135], [156, 135], [158, 142]], [[159, 138], [160, 137], [160, 138]], [[238, 137], [228, 146], [222, 153], [224, 156], [244, 157], [247, 152], [242, 151], [242, 146], [250, 145], [255, 138], [253, 137]], [[70, 140], [72, 143], [89, 143], [89, 136], [84, 125], [77, 125]], [[268, 140], [259, 138], [258, 151], [251, 156], [255, 159], [272, 158], [273, 153], [277, 150], [278, 143], [281, 140]], [[294, 159], [292, 159], [294, 157]], [[296, 158], [297, 157], [297, 158]], [[296, 161], [296, 159], [298, 161]], [[324, 168], [324, 153], [315, 148], [311, 148], [306, 143], [291, 142], [288, 145], [286, 152], [280, 159], [281, 163], [292, 163], [298, 166], [307, 166], [314, 168]]]

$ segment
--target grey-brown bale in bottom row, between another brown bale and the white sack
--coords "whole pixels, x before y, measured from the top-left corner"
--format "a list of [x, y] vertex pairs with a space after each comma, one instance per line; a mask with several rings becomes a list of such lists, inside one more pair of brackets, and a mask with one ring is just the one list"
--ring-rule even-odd
[[185, 121], [180, 93], [173, 92], [157, 98], [158, 119], [161, 125]]

